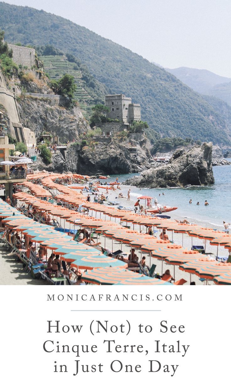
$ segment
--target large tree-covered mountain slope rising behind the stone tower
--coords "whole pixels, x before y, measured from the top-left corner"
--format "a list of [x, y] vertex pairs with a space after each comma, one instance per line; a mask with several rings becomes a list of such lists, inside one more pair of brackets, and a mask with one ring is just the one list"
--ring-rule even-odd
[[199, 94], [142, 56], [62, 17], [43, 10], [0, 3], [7, 41], [52, 44], [71, 52], [110, 93], [124, 93], [142, 106], [149, 136], [192, 137], [227, 144], [224, 120]]

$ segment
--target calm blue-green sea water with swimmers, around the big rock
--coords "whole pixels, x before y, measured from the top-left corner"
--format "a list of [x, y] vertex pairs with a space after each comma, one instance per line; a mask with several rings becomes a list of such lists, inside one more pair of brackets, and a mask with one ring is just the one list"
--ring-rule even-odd
[[[177, 217], [187, 217], [192, 221], [199, 220], [201, 222], [209, 222], [211, 225], [221, 226], [223, 220], [231, 223], [231, 165], [214, 166], [213, 174], [215, 184], [212, 186], [165, 189], [140, 189], [132, 186], [130, 196], [135, 200], [138, 196], [150, 195], [153, 198], [157, 197], [160, 204], [178, 207], [174, 212], [168, 213], [172, 218], [174, 218], [174, 215], [177, 215]], [[120, 182], [123, 182], [135, 175], [138, 174], [121, 174], [116, 176], [118, 176]], [[105, 181], [115, 181], [116, 176], [111, 176], [111, 178]], [[121, 186], [121, 188], [126, 193], [127, 188], [125, 186]], [[162, 192], [164, 192], [164, 196]], [[192, 199], [192, 204], [189, 204], [190, 199]], [[205, 200], [208, 201], [208, 206], [204, 206]], [[197, 201], [199, 201], [200, 205], [196, 205]]]

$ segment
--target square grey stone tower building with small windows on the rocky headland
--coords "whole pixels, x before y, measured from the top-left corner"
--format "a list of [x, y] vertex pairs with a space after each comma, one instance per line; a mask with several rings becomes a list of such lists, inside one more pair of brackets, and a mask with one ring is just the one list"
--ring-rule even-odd
[[108, 112], [110, 119], [118, 119], [125, 125], [141, 120], [141, 107], [137, 103], [132, 103], [132, 98], [125, 97], [123, 94], [106, 95], [105, 104], [110, 108]]

